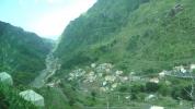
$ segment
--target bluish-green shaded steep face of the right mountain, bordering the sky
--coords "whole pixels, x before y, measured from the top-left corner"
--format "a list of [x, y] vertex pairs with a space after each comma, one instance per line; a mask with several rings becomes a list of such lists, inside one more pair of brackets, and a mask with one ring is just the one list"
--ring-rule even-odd
[[99, 60], [90, 47], [112, 40], [128, 22], [130, 13], [148, 0], [99, 0], [93, 8], [72, 21], [61, 36], [57, 53], [64, 66], [70, 68]]

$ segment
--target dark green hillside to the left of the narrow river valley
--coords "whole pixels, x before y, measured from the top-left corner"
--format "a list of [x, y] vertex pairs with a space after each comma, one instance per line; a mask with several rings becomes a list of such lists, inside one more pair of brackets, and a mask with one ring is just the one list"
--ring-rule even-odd
[[34, 33], [0, 22], [0, 71], [10, 72], [16, 84], [28, 84], [45, 68], [50, 45]]

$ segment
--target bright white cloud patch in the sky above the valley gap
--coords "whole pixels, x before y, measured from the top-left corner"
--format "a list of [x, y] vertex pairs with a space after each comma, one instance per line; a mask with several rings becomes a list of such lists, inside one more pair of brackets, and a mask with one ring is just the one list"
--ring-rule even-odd
[[80, 0], [72, 5], [47, 12], [33, 21], [30, 28], [44, 37], [59, 36], [71, 20], [85, 12], [93, 3], [93, 0]]

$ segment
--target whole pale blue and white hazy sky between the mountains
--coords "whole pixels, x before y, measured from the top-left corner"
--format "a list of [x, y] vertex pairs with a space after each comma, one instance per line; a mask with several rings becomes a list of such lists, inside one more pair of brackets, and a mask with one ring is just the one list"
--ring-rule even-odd
[[0, 21], [55, 38], [96, 0], [0, 0]]

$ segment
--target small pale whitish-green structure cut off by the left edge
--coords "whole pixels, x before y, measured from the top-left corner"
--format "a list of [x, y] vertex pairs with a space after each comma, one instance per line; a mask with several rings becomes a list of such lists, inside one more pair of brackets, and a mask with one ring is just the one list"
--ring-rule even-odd
[[12, 76], [7, 72], [0, 73], [0, 82], [7, 85], [13, 85]]

